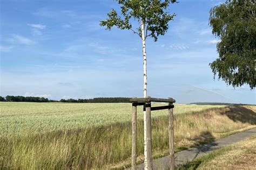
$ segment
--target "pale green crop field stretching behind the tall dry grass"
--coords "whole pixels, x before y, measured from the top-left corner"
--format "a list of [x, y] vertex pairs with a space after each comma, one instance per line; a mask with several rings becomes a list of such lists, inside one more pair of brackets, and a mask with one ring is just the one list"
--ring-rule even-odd
[[[26, 135], [56, 130], [109, 125], [131, 121], [132, 105], [128, 103], [0, 103], [0, 135]], [[176, 104], [174, 114], [198, 112], [224, 106]], [[167, 115], [154, 111], [152, 117]], [[143, 119], [142, 106], [138, 119]]]

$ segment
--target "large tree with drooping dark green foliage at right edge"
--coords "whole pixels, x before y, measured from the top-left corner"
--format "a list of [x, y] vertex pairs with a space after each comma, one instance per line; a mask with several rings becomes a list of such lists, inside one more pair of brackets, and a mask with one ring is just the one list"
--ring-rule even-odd
[[212, 33], [219, 58], [210, 63], [218, 78], [228, 85], [256, 85], [256, 4], [255, 0], [227, 0], [210, 11]]

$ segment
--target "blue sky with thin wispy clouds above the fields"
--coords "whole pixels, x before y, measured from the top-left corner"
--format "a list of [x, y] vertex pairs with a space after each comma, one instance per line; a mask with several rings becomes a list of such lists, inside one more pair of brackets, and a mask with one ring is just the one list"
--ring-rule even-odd
[[[112, 0], [1, 0], [0, 96], [50, 99], [142, 97], [141, 39], [130, 30], [99, 26]], [[255, 91], [213, 80], [218, 57], [209, 10], [223, 1], [180, 0], [158, 42], [147, 39], [148, 95], [197, 101], [256, 104]]]

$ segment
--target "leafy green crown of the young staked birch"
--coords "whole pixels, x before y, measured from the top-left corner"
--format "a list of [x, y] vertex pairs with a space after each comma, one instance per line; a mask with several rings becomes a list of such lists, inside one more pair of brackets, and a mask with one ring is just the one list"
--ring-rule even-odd
[[146, 37], [152, 37], [154, 41], [157, 41], [159, 35], [164, 35], [168, 30], [168, 22], [173, 19], [175, 13], [170, 14], [167, 10], [170, 3], [176, 2], [176, 0], [116, 0], [120, 4], [121, 14], [118, 15], [117, 11], [111, 9], [107, 13], [107, 18], [100, 22], [101, 26], [106, 26], [107, 30], [110, 30], [113, 26], [117, 26], [119, 29], [128, 29], [137, 33], [142, 37], [142, 29], [138, 26], [134, 28], [131, 18], [138, 22], [144, 22], [146, 24]]

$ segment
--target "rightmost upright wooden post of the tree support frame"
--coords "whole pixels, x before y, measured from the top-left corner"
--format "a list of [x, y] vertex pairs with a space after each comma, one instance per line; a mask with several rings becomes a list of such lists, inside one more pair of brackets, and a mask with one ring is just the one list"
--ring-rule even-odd
[[[172, 103], [169, 103], [172, 105]], [[169, 108], [169, 153], [170, 153], [170, 169], [174, 170], [174, 132], [173, 132], [173, 108]]]

